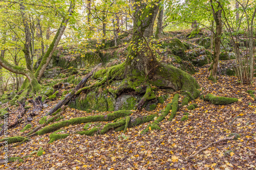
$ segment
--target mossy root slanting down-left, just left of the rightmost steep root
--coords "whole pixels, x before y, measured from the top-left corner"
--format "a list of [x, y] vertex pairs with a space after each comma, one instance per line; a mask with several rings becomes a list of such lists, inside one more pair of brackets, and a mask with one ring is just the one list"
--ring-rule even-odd
[[167, 116], [169, 114], [170, 109], [172, 109], [172, 103], [169, 103], [166, 105], [165, 109], [162, 110], [162, 113], [160, 114], [160, 116], [152, 123], [149, 124], [146, 129], [144, 129], [141, 134], [143, 133], [147, 133], [150, 129], [154, 130], [154, 129], [159, 129], [161, 130], [161, 128], [158, 126], [159, 123], [164, 119], [165, 116]]

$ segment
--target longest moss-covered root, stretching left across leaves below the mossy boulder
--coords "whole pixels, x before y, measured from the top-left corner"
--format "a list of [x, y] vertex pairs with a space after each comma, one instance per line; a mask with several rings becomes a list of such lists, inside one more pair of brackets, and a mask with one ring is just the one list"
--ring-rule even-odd
[[54, 132], [60, 128], [68, 127], [69, 125], [77, 125], [82, 123], [90, 123], [90, 122], [107, 122], [112, 121], [118, 117], [124, 117], [127, 115], [132, 114], [131, 111], [127, 110], [119, 110], [113, 113], [109, 113], [106, 115], [94, 115], [94, 116], [87, 116], [87, 117], [77, 117], [72, 118], [70, 120], [63, 120], [62, 122], [58, 122], [36, 132], [37, 135], [43, 135], [46, 133]]

